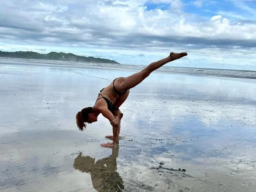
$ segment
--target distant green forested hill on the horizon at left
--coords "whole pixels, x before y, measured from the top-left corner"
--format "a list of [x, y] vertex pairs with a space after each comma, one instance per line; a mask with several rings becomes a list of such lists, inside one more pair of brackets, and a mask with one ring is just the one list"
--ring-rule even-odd
[[76, 62], [91, 62], [91, 63], [118, 63], [114, 60], [85, 57], [85, 56], [75, 55], [73, 53], [63, 53], [63, 52], [60, 52], [60, 53], [50, 52], [47, 54], [40, 54], [33, 51], [16, 51], [16, 52], [0, 51], [0, 57], [61, 60], [61, 61], [76, 61]]

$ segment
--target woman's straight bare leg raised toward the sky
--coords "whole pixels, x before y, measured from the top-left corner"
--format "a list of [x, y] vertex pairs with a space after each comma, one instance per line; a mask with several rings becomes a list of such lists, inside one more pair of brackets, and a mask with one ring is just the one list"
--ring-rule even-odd
[[139, 83], [141, 83], [154, 70], [158, 69], [159, 67], [162, 67], [166, 63], [182, 58], [184, 56], [187, 56], [186, 52], [170, 53], [170, 56], [168, 56], [167, 58], [151, 63], [140, 72], [134, 73], [133, 75], [128, 77], [118, 78], [114, 82], [114, 86], [117, 89], [117, 91], [125, 91], [127, 89], [131, 89]]

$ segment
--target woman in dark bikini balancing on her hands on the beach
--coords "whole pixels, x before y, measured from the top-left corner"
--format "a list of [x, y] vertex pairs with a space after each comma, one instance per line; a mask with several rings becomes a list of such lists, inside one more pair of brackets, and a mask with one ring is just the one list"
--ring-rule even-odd
[[113, 142], [104, 143], [101, 144], [101, 146], [114, 147], [120, 134], [120, 122], [123, 117], [119, 107], [127, 99], [129, 90], [142, 82], [154, 70], [183, 56], [187, 56], [187, 53], [170, 53], [170, 56], [167, 58], [151, 63], [140, 72], [129, 77], [119, 77], [113, 80], [110, 85], [100, 91], [93, 107], [84, 108], [76, 114], [76, 124], [78, 128], [84, 130], [86, 123], [97, 121], [97, 117], [101, 113], [110, 121], [113, 127], [113, 136], [106, 136], [106, 138], [113, 139]]

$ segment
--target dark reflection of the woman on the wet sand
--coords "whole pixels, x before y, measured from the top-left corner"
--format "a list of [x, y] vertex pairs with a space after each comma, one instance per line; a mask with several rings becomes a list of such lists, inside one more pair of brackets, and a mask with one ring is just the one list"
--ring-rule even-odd
[[95, 158], [82, 156], [80, 153], [74, 159], [74, 168], [82, 172], [90, 173], [93, 187], [97, 191], [121, 191], [124, 189], [123, 179], [116, 172], [116, 158], [119, 147], [112, 147], [112, 154], [94, 163]]

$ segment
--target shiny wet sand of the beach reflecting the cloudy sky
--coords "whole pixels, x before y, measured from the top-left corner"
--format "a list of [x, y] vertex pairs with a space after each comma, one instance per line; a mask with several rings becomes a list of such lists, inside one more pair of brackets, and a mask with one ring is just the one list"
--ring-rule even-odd
[[0, 64], [1, 191], [255, 191], [256, 80], [154, 72], [131, 89], [117, 147], [75, 114], [136, 71]]

